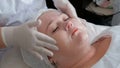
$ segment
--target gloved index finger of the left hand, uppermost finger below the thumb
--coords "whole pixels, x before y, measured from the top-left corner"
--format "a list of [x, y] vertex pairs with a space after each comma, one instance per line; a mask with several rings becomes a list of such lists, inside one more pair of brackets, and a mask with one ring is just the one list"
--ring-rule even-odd
[[39, 40], [46, 41], [46, 42], [51, 43], [51, 44], [56, 44], [56, 41], [53, 38], [51, 38], [43, 33], [36, 31], [35, 35], [36, 35], [37, 39], [39, 39]]

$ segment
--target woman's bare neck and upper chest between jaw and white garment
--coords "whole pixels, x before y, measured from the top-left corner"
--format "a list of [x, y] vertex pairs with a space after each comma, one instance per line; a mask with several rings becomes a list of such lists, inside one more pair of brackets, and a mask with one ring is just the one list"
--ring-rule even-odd
[[[72, 68], [91, 68], [106, 53], [111, 42], [111, 37], [103, 37], [92, 44], [88, 53]], [[102, 49], [102, 50], [101, 50]]]

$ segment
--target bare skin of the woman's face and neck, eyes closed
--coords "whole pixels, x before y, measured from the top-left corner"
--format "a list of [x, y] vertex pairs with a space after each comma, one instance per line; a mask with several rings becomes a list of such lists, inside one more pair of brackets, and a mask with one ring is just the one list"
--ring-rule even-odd
[[103, 49], [100, 55], [97, 54], [99, 51], [95, 46], [98, 44], [93, 44], [93, 46], [89, 44], [87, 30], [83, 24], [86, 21], [83, 19], [70, 18], [55, 10], [43, 13], [38, 19], [42, 21], [38, 31], [57, 41], [59, 51], [53, 51], [54, 56], [51, 59], [58, 68], [89, 68], [104, 55], [108, 48], [108, 46], [98, 46], [98, 50], [100, 48], [105, 50]]

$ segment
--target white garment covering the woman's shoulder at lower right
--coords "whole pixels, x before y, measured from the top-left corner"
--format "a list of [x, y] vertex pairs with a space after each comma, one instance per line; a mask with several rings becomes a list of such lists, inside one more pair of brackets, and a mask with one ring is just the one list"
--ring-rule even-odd
[[112, 36], [108, 51], [92, 68], [120, 68], [120, 26], [104, 31], [99, 37], [107, 34]]

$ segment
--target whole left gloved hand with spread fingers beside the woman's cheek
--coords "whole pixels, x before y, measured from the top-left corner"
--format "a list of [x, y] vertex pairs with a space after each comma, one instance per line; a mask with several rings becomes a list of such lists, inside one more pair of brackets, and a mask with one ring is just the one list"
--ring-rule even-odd
[[53, 53], [48, 50], [58, 50], [55, 46], [56, 41], [52, 38], [37, 32], [34, 28], [40, 23], [28, 22], [20, 26], [3, 27], [2, 37], [6, 46], [18, 46], [27, 50], [32, 55], [42, 59], [40, 53], [52, 56]]

